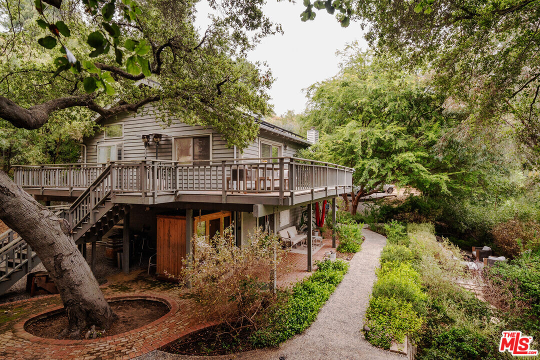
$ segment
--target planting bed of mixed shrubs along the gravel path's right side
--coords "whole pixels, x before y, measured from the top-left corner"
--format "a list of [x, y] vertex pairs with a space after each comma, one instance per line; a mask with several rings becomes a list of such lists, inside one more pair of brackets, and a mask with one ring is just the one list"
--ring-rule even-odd
[[491, 322], [489, 305], [457, 285], [469, 276], [457, 248], [437, 241], [430, 224], [392, 222], [385, 228], [389, 239], [366, 312], [366, 339], [389, 349], [408, 336], [423, 360], [500, 356], [500, 328]]

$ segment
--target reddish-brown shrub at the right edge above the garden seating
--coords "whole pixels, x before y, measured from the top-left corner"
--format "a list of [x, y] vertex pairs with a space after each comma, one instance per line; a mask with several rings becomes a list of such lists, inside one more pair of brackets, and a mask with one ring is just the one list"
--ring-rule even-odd
[[510, 219], [491, 230], [497, 250], [509, 257], [516, 257], [525, 249], [537, 252], [540, 244], [540, 224], [517, 218]]

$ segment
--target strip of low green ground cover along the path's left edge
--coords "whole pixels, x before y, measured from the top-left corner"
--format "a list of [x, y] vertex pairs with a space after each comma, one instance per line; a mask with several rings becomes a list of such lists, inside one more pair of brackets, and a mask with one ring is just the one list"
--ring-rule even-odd
[[295, 284], [286, 304], [268, 315], [268, 325], [251, 335], [255, 347], [279, 345], [307, 329], [349, 268], [342, 260], [316, 262], [316, 266], [313, 275]]

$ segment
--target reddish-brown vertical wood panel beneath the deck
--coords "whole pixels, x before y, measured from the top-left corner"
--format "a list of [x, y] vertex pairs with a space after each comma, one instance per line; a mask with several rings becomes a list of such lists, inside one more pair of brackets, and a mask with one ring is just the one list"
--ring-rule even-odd
[[178, 275], [186, 257], [185, 216], [157, 216], [157, 273]]

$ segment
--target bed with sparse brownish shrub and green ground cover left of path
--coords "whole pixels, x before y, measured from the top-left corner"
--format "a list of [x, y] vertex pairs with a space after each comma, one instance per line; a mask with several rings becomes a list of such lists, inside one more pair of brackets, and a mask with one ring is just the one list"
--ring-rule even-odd
[[179, 276], [181, 286], [189, 284], [184, 294], [197, 303], [201, 320], [219, 325], [167, 349], [180, 354], [231, 354], [279, 345], [311, 325], [349, 267], [342, 260], [318, 261], [311, 276], [273, 291], [271, 274], [275, 268], [278, 274], [286, 270], [285, 252], [277, 237], [260, 229], [241, 248], [230, 229], [212, 243], [196, 239], [194, 254]]

